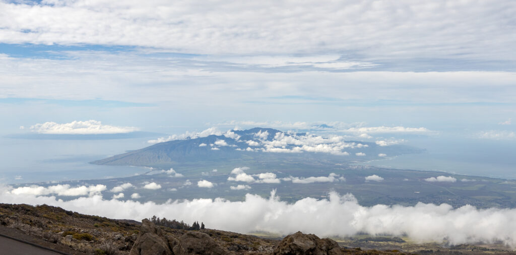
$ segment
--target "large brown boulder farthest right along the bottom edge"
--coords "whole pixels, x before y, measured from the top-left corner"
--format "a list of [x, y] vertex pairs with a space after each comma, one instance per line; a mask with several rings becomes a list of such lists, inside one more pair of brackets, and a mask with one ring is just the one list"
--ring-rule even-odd
[[343, 254], [337, 242], [324, 238], [320, 239], [314, 234], [303, 234], [297, 232], [292, 235], [287, 235], [283, 238], [280, 245], [276, 247], [273, 254]]

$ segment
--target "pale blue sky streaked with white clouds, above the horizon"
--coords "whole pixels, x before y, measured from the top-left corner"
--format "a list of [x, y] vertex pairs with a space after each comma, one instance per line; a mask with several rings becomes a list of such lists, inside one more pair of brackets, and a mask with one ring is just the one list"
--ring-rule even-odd
[[164, 133], [340, 121], [516, 139], [511, 1], [2, 0], [0, 9], [3, 134], [50, 121]]

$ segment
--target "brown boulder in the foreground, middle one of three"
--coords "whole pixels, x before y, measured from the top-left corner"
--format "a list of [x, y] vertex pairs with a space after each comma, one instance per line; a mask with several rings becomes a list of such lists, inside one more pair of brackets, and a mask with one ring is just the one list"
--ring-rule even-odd
[[[175, 239], [175, 238], [174, 238]], [[174, 244], [172, 250], [175, 255], [183, 254], [226, 254], [222, 248], [208, 234], [202, 232], [187, 232], [179, 240], [169, 238], [169, 244]]]

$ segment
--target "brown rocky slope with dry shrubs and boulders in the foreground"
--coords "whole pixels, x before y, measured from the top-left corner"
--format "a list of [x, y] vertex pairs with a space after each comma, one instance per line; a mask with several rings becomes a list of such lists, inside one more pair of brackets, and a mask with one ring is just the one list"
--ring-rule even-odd
[[[297, 232], [283, 240], [227, 231], [176, 230], [149, 220], [115, 220], [48, 205], [0, 204], [0, 233], [72, 254], [411, 254], [501, 250], [445, 249], [404, 252], [385, 246], [343, 247], [329, 239]], [[514, 254], [514, 253], [512, 253]]]

